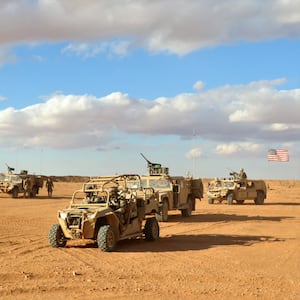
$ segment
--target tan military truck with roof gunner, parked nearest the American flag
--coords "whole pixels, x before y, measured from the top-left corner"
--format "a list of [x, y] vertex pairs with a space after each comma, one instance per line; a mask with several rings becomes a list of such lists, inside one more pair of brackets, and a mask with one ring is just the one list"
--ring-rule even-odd
[[247, 176], [241, 176], [231, 172], [229, 178], [215, 178], [209, 183], [207, 198], [208, 203], [243, 204], [245, 200], [253, 200], [255, 204], [262, 205], [267, 197], [266, 183], [263, 180], [249, 180]]

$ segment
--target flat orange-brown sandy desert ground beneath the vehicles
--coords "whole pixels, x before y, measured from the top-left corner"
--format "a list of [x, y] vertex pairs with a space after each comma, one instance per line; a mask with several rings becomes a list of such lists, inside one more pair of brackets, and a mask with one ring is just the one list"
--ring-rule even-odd
[[1, 299], [300, 299], [300, 181], [267, 181], [265, 205], [197, 202], [172, 211], [156, 242], [112, 253], [70, 241], [53, 249], [56, 211], [81, 183], [35, 199], [0, 194]]

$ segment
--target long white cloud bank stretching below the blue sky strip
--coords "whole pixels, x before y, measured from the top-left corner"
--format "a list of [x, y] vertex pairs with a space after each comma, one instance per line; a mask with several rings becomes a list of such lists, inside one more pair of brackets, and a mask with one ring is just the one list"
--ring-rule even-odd
[[113, 131], [181, 139], [197, 132], [197, 138], [219, 144], [218, 154], [293, 142], [300, 134], [300, 90], [278, 90], [274, 82], [282, 81], [226, 85], [153, 101], [120, 92], [102, 98], [54, 94], [23, 109], [0, 110], [0, 144], [27, 140], [53, 148], [103, 148], [115, 138]]

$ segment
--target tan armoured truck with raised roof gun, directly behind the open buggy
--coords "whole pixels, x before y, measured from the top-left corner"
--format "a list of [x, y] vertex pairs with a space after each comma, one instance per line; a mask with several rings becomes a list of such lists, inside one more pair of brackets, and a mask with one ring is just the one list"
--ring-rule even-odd
[[159, 195], [158, 221], [168, 221], [168, 211], [178, 209], [183, 217], [192, 215], [196, 209], [196, 199], [203, 197], [203, 183], [200, 178], [170, 176], [169, 169], [161, 164], [148, 163], [148, 175], [141, 176], [142, 186], [153, 188]]

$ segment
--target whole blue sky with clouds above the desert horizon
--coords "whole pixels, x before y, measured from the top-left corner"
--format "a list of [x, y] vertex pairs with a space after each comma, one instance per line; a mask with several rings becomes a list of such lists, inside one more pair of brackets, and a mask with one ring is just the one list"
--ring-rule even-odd
[[299, 179], [300, 1], [4, 0], [0, 25], [0, 172]]

